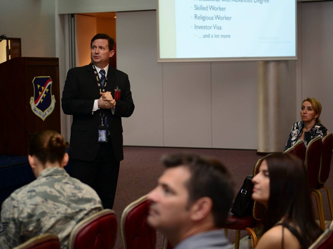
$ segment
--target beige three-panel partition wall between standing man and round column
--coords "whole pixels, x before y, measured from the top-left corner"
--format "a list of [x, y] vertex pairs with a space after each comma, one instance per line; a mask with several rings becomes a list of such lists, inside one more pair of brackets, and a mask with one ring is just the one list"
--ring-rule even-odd
[[255, 149], [256, 62], [157, 63], [156, 33], [155, 11], [117, 14], [117, 67], [136, 106], [124, 144]]

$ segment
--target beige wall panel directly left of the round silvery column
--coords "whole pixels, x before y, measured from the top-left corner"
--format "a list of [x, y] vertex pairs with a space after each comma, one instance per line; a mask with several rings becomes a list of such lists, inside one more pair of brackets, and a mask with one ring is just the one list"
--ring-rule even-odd
[[212, 63], [212, 147], [257, 148], [257, 63]]

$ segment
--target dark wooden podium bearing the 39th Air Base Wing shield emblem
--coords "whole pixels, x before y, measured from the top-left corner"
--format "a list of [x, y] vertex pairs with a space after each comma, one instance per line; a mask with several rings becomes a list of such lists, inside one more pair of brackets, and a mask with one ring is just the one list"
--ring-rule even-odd
[[60, 132], [59, 59], [17, 57], [0, 64], [0, 154], [28, 155], [29, 140]]

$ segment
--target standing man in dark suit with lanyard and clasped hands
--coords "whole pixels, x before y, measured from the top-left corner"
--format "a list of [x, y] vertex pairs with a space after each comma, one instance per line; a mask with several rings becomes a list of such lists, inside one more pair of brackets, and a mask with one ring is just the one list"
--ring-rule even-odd
[[[112, 208], [123, 155], [121, 117], [134, 111], [128, 75], [109, 66], [114, 40], [97, 34], [91, 40], [91, 63], [68, 71], [62, 109], [73, 115], [69, 155], [72, 176], [88, 184], [100, 196], [104, 208]], [[115, 99], [115, 89], [120, 98]], [[102, 133], [107, 141], [99, 140]], [[99, 136], [100, 134], [100, 136]]]

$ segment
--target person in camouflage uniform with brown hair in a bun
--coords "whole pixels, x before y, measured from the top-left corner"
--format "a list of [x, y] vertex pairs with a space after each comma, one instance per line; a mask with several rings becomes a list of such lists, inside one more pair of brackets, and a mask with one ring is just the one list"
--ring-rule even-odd
[[29, 163], [36, 180], [14, 191], [1, 211], [0, 248], [12, 248], [28, 239], [52, 233], [61, 248], [68, 248], [74, 226], [103, 209], [97, 193], [70, 177], [64, 138], [55, 131], [42, 131], [29, 146]]

